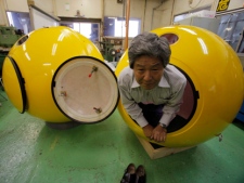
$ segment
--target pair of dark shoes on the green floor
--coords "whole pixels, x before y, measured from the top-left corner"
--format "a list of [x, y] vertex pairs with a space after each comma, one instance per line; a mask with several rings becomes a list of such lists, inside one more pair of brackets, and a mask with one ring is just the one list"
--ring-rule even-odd
[[134, 164], [129, 164], [120, 183], [145, 183], [146, 174], [145, 169], [142, 165], [140, 165], [137, 170]]

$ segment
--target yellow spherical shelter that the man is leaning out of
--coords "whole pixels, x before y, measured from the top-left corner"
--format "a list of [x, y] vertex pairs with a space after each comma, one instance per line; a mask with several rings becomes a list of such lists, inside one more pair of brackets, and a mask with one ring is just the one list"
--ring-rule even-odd
[[[139, 136], [168, 147], [193, 146], [219, 135], [235, 118], [243, 102], [243, 68], [237, 55], [220, 37], [203, 28], [176, 25], [152, 32], [169, 40], [170, 64], [188, 79], [184, 103], [178, 114], [182, 120], [170, 123], [176, 128], [168, 132], [165, 143], [156, 143], [144, 136], [119, 102], [121, 117]], [[126, 66], [127, 52], [116, 67], [116, 76]]]

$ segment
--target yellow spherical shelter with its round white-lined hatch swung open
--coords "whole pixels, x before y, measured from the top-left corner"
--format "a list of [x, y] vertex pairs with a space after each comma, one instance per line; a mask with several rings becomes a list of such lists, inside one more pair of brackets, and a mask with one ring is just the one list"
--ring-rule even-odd
[[116, 76], [98, 48], [63, 26], [22, 37], [4, 60], [2, 79], [20, 113], [47, 122], [102, 121], [119, 97]]

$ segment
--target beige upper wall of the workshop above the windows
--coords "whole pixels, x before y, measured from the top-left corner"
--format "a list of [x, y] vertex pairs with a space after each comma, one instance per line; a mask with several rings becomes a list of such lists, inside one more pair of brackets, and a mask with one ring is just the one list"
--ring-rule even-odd
[[[35, 5], [54, 16], [74, 17], [77, 10], [85, 17], [102, 18], [123, 16], [124, 5], [117, 0], [33, 0]], [[125, 0], [127, 1], [127, 0]], [[17, 2], [17, 3], [16, 3]], [[145, 6], [146, 2], [146, 6]], [[163, 2], [163, 3], [162, 3]], [[216, 10], [218, 0], [130, 0], [130, 17], [142, 19], [142, 31], [171, 24], [174, 14], [180, 14], [201, 6]], [[229, 10], [243, 8], [244, 0], [231, 0]], [[175, 5], [174, 5], [175, 4]], [[5, 11], [28, 12], [27, 0], [0, 0], [0, 25], [8, 25]]]

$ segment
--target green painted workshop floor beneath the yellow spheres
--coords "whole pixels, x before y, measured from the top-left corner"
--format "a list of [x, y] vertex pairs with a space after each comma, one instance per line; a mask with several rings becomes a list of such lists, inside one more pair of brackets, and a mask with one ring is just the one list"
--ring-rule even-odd
[[116, 110], [97, 125], [54, 130], [20, 114], [0, 92], [0, 183], [119, 183], [129, 162], [147, 183], [244, 183], [244, 130], [159, 159], [149, 155]]

